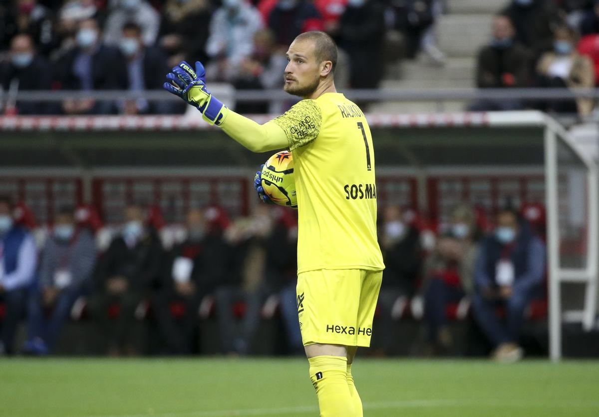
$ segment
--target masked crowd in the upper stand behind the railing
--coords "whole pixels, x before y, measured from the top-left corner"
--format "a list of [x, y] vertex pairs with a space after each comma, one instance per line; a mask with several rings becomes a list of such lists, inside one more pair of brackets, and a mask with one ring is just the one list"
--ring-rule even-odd
[[[323, 30], [340, 46], [338, 87], [376, 88], [385, 66], [419, 51], [434, 64], [443, 0], [12, 0], [0, 5], [0, 83], [17, 90], [154, 90], [182, 59], [238, 89], [282, 84], [296, 35]], [[580, 37], [582, 35], [582, 38]], [[400, 39], [401, 41], [397, 41]], [[211, 77], [211, 78], [210, 78]], [[597, 0], [513, 0], [480, 50], [479, 87], [592, 87], [599, 79]], [[482, 101], [473, 110], [578, 112], [577, 101]], [[184, 105], [144, 99], [10, 100], [8, 114], [168, 114]], [[265, 105], [239, 110], [263, 113]]]

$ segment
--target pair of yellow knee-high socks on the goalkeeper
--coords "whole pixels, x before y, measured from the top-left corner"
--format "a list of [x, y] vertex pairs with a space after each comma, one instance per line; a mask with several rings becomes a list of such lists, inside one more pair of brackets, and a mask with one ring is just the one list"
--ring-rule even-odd
[[[310, 379], [318, 397], [320, 417], [361, 416], [361, 411], [358, 414], [354, 410], [355, 400], [350, 394], [347, 380], [347, 358], [314, 356], [314, 358], [308, 358], [308, 362], [310, 362]], [[357, 394], [358, 392], [356, 392]]]

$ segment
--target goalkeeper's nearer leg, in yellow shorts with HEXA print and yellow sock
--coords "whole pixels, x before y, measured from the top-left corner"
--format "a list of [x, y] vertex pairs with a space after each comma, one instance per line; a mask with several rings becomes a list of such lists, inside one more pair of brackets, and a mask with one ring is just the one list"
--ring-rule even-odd
[[[298, 277], [298, 318], [321, 417], [353, 417], [347, 345], [355, 345], [359, 271], [309, 271]], [[355, 300], [355, 302], [351, 302]]]

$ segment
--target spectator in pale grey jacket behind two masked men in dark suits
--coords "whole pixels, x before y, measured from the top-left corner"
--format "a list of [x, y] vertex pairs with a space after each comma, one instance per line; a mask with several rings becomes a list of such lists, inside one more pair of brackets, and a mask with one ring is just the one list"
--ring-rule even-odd
[[158, 38], [160, 15], [146, 0], [118, 0], [104, 25], [104, 41], [117, 45], [125, 24], [135, 22], [141, 28], [141, 38], [146, 46], [153, 46]]

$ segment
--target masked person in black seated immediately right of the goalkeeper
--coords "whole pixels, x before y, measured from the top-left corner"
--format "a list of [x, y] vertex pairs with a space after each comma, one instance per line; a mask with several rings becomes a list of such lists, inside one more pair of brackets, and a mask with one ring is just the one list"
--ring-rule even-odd
[[422, 267], [420, 232], [403, 220], [397, 206], [388, 207], [384, 213], [381, 249], [385, 259], [383, 283], [379, 294], [379, 333], [383, 335], [382, 349], [389, 353], [395, 342], [394, 307], [400, 297], [412, 297], [416, 292], [416, 280]]

